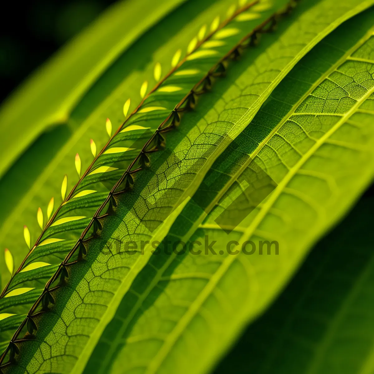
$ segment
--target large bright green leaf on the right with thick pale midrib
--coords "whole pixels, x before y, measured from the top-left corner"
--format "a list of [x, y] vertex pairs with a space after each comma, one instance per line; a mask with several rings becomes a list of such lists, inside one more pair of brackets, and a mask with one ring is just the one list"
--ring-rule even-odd
[[[198, 199], [188, 203], [168, 239], [171, 243], [186, 243], [194, 233], [191, 241], [202, 245], [206, 238], [209, 243], [216, 240], [216, 255], [205, 252], [205, 256], [178, 256], [171, 252], [153, 256], [105, 329], [86, 367], [87, 373], [93, 367], [99, 367], [98, 372], [103, 373], [135, 367], [144, 368], [146, 373], [206, 371], [237, 332], [275, 297], [313, 240], [349, 208], [373, 178], [373, 168], [367, 168], [374, 161], [371, 115], [365, 113], [364, 119], [360, 111], [371, 105], [374, 80], [368, 74], [374, 73], [374, 61], [356, 61], [367, 58], [361, 53], [373, 50], [373, 29], [367, 32], [372, 19], [373, 10], [367, 11], [321, 42], [275, 89], [251, 125], [237, 138], [237, 148], [225, 151], [217, 160], [212, 170], [218, 175], [209, 174], [205, 185], [209, 178], [215, 181], [210, 191], [216, 191], [218, 197], [222, 196], [221, 189], [214, 188], [226, 191], [228, 180], [234, 179], [236, 183], [236, 188], [227, 194], [234, 197], [243, 181], [254, 181], [257, 175], [253, 172], [258, 166], [251, 170], [252, 158], [246, 157], [247, 165], [232, 165], [231, 169], [224, 164], [236, 151], [242, 153], [241, 159], [236, 160], [243, 162], [243, 152], [248, 148], [254, 162], [267, 171], [278, 187], [230, 235], [214, 222], [228, 205], [226, 195], [208, 217], [196, 204]], [[348, 35], [347, 30], [355, 31], [342, 38]], [[306, 72], [311, 73], [308, 77], [313, 77], [313, 81], [301, 80]], [[346, 91], [338, 96], [343, 88], [336, 83], [330, 90], [331, 95], [337, 95], [332, 96], [334, 110], [328, 111], [332, 111], [332, 119], [325, 120], [325, 112], [310, 110], [309, 120], [300, 124], [295, 117], [301, 114], [294, 112], [301, 113], [307, 102], [317, 101], [315, 96], [321, 87], [332, 79], [336, 82], [337, 73], [345, 74], [344, 83], [340, 84]], [[354, 96], [357, 92], [359, 96]], [[350, 107], [344, 107], [341, 113], [339, 103], [347, 102], [345, 98], [351, 96], [355, 99], [349, 100]], [[264, 125], [268, 126], [263, 130], [266, 134], [261, 134], [259, 130]], [[254, 149], [248, 144], [251, 138], [253, 144], [257, 143]], [[310, 157], [309, 163], [304, 163], [305, 155]], [[245, 170], [242, 174], [241, 169]], [[227, 175], [229, 171], [232, 174]], [[292, 177], [295, 171], [299, 173]], [[333, 189], [329, 190], [330, 187]], [[204, 192], [209, 205], [209, 194]], [[195, 231], [194, 226], [204, 218]], [[240, 244], [252, 240], [257, 249], [260, 240], [277, 240], [279, 255], [274, 252], [275, 246], [271, 255], [266, 254], [266, 246], [263, 255], [258, 251], [252, 256], [243, 252], [228, 255], [226, 245], [230, 240]]]

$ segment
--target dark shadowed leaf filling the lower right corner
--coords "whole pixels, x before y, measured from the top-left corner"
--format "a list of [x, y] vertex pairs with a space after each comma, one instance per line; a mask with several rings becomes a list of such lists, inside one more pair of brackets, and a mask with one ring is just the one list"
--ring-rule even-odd
[[[321, 240], [215, 374], [373, 373], [373, 196]], [[291, 353], [292, 352], [292, 353]]]

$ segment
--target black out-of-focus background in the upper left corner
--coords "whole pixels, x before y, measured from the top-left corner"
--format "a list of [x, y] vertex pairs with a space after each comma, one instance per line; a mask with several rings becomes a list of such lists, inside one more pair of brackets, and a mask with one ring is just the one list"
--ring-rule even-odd
[[[7, 1], [0, 22], [0, 102], [115, 0]], [[3, 4], [4, 5], [4, 4]]]

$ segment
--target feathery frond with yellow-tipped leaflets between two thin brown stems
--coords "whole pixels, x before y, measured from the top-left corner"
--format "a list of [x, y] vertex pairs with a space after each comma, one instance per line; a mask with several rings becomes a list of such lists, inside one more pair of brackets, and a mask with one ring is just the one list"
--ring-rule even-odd
[[[279, 3], [282, 4], [283, 1], [279, 1]], [[249, 4], [248, 7], [250, 6], [251, 4]], [[248, 7], [244, 6], [243, 9], [238, 9], [232, 17], [235, 17]], [[269, 10], [270, 9], [272, 8], [270, 7]], [[204, 77], [208, 74], [209, 68], [212, 67], [212, 64], [214, 67], [225, 55], [229, 56], [231, 54], [230, 49], [232, 45], [242, 40], [243, 36], [253, 29], [253, 22], [241, 22], [240, 29], [236, 28], [237, 32], [235, 35], [232, 35], [234, 39], [229, 40], [230, 35], [226, 35], [226, 42], [219, 48], [216, 48], [214, 58], [208, 61], [204, 58], [194, 58], [192, 59], [193, 61], [190, 62], [188, 56], [197, 53], [196, 51], [199, 51], [201, 48], [205, 48], [202, 44], [205, 43], [205, 40], [211, 38], [215, 31], [224, 31], [226, 29], [226, 23], [231, 21], [230, 17], [228, 21], [223, 21], [223, 23], [218, 24], [217, 30], [214, 30], [212, 34], [208, 34], [206, 38], [203, 37], [203, 39], [200, 40], [200, 43], [196, 43], [196, 45], [189, 50], [186, 57], [178, 62], [173, 70], [167, 73], [149, 93], [146, 94], [147, 82], [141, 85], [140, 93], [142, 100], [140, 104], [117, 129], [82, 176], [80, 175], [82, 166], [81, 159], [79, 154], [76, 154], [75, 168], [80, 176], [80, 180], [67, 194], [67, 178], [66, 176], [64, 177], [61, 187], [63, 203], [53, 213], [46, 225], [44, 225], [45, 222], [42, 210], [40, 208], [38, 209], [37, 221], [39, 226], [43, 229], [42, 233], [1, 294], [1, 297], [5, 298], [7, 295], [13, 295], [13, 293], [18, 292], [18, 290], [22, 290], [23, 287], [21, 286], [28, 286], [29, 288], [31, 286], [31, 288], [34, 289], [32, 293], [34, 300], [31, 297], [27, 298], [26, 301], [22, 298], [12, 298], [11, 300], [13, 300], [13, 303], [10, 301], [3, 306], [6, 312], [11, 311], [12, 313], [17, 313], [20, 307], [22, 307], [23, 311], [24, 304], [26, 303], [29, 303], [30, 306], [34, 303], [42, 303], [42, 312], [45, 312], [49, 303], [54, 304], [53, 295], [49, 291], [43, 292], [43, 285], [52, 275], [53, 278], [49, 279], [47, 282], [47, 289], [52, 288], [56, 291], [56, 289], [61, 286], [61, 282], [64, 283], [65, 276], [67, 277], [69, 275], [66, 267], [69, 265], [71, 256], [77, 252], [78, 260], [82, 260], [82, 258], [85, 257], [90, 237], [95, 237], [98, 231], [102, 231], [102, 223], [105, 217], [110, 215], [110, 212], [119, 205], [120, 202], [117, 201], [117, 195], [122, 193], [123, 189], [127, 191], [129, 186], [132, 186], [134, 183], [133, 174], [149, 166], [150, 160], [146, 153], [148, 152], [148, 148], [149, 152], [153, 152], [157, 150], [157, 147], [162, 147], [162, 143], [165, 142], [165, 139], [163, 138], [163, 132], [159, 131], [160, 126], [164, 123], [166, 126], [174, 126], [174, 122], [176, 121], [175, 116], [178, 116], [179, 122], [179, 114], [174, 108], [181, 105], [184, 101], [187, 101], [192, 88], [196, 87], [196, 90], [199, 90], [198, 93], [202, 93], [203, 89], [199, 87], [205, 79]], [[266, 12], [263, 18], [266, 18]], [[175, 74], [176, 71], [183, 71], [181, 69], [185, 68], [185, 65], [187, 65], [187, 68], [190, 68], [190, 71], [198, 71], [199, 74], [189, 73], [187, 74], [188, 76], [186, 76], [186, 74], [182, 74], [182, 76]], [[180, 89], [163, 90], [160, 92], [162, 88], [175, 87], [171, 86], [169, 81], [178, 84], [178, 88]], [[184, 87], [184, 89], [181, 88], [181, 86]], [[190, 89], [188, 90], [186, 87], [190, 87]], [[174, 93], [176, 91], [178, 91], [178, 93]], [[180, 93], [179, 91], [182, 92]], [[194, 95], [194, 93], [191, 93], [191, 96], [192, 95]], [[154, 106], [155, 103], [158, 105]], [[164, 106], [161, 107], [160, 105]], [[169, 118], [171, 119], [171, 123], [168, 124], [166, 121]], [[108, 135], [112, 134], [112, 124], [109, 119], [106, 120], [105, 129]], [[161, 128], [161, 130], [163, 131], [163, 128]], [[168, 130], [167, 127], [166, 130]], [[160, 144], [159, 141], [161, 142]], [[92, 153], [96, 154], [96, 151], [92, 151]], [[162, 175], [164, 173], [165, 171], [162, 172]], [[149, 178], [150, 175], [151, 172], [148, 171], [145, 181], [148, 181], [147, 178]], [[145, 185], [146, 183], [143, 184], [143, 186]], [[147, 187], [145, 189], [147, 189]], [[109, 191], [110, 194], [108, 194]], [[144, 210], [144, 206], [141, 205], [142, 203], [140, 204], [140, 209]], [[125, 208], [127, 208], [126, 204]], [[48, 208], [48, 210], [48, 215], [50, 215], [53, 212], [53, 207], [51, 209]], [[135, 211], [135, 214], [138, 214], [138, 212]], [[132, 218], [130, 217], [130, 222], [131, 221]], [[147, 229], [150, 230], [150, 227], [147, 227]], [[28, 229], [24, 230], [27, 232], [25, 240], [29, 246], [30, 234]], [[9, 253], [9, 251], [7, 253]], [[64, 260], [61, 262], [62, 259]], [[34, 262], [35, 260], [39, 261]], [[40, 260], [50, 261], [50, 263], [47, 262], [46, 264], [48, 266], [45, 267], [37, 266], [37, 264], [41, 263]], [[45, 263], [43, 261], [42, 263]], [[31, 271], [31, 268], [33, 271]], [[13, 270], [10, 271], [10, 273], [13, 274]], [[61, 276], [60, 283], [52, 286], [53, 282], [55, 282], [59, 276]], [[21, 329], [26, 325], [28, 333], [33, 334], [33, 331], [37, 329], [36, 327], [34, 328], [34, 326], [36, 326], [34, 314], [35, 309], [31, 309], [28, 318], [25, 319], [25, 323], [19, 327], [17, 334], [19, 334]], [[33, 316], [32, 318], [31, 315]], [[30, 328], [30, 326], [32, 327]], [[13, 332], [14, 331], [11, 330], [7, 331], [7, 335], [9, 336], [9, 334], [13, 334]], [[3, 335], [3, 339], [7, 339], [7, 335]], [[11, 349], [11, 346], [9, 346], [9, 349]], [[6, 352], [8, 351], [9, 350]]]

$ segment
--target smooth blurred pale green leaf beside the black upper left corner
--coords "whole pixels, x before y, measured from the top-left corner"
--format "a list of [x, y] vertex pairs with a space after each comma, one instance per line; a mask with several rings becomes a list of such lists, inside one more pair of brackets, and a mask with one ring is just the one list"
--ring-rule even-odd
[[74, 105], [120, 53], [184, 1], [116, 4], [16, 91], [0, 111], [0, 176], [44, 129], [68, 119]]

